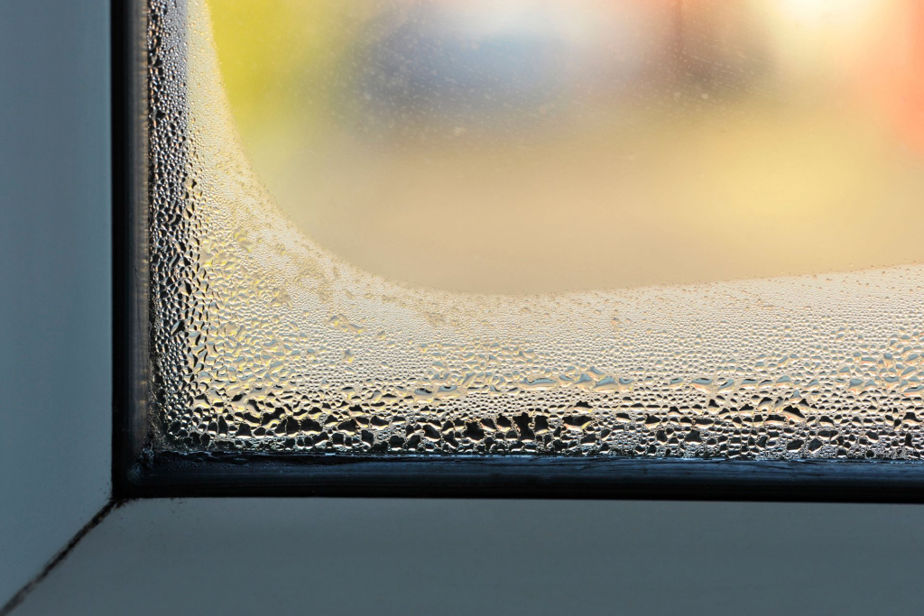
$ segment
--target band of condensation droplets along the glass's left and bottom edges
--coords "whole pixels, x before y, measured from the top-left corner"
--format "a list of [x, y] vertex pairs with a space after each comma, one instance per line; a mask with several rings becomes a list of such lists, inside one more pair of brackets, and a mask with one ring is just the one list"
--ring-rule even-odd
[[148, 42], [152, 446], [924, 452], [924, 267], [545, 296], [387, 281], [276, 210], [242, 153], [201, 2], [153, 0]]

